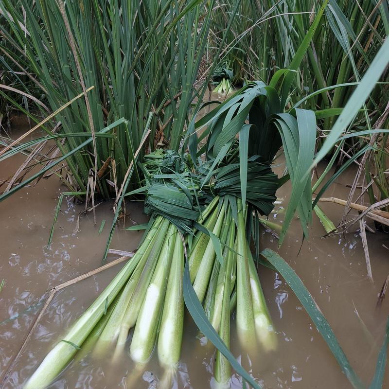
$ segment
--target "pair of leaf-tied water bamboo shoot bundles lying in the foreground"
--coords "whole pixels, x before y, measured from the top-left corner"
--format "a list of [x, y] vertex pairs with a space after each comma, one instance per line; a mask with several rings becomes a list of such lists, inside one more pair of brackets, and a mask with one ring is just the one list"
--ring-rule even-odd
[[[276, 348], [249, 244], [258, 247], [260, 215], [273, 210], [276, 190], [289, 177], [294, 185], [280, 241], [296, 210], [307, 233], [312, 202], [305, 172], [313, 159], [316, 130], [311, 111], [278, 113], [281, 107], [273, 86], [250, 83], [196, 123], [194, 117], [181, 154], [157, 150], [144, 157], [144, 185], [127, 194], [144, 195], [144, 209], [151, 216], [137, 252], [25, 388], [45, 388], [80, 348], [88, 346], [96, 354], [112, 349], [113, 360], [128, 348], [141, 370], [156, 344], [166, 368], [161, 382], [169, 386], [182, 342], [186, 265], [206, 316], [227, 346], [236, 306], [242, 348], [248, 353], [257, 345], [262, 352]], [[289, 174], [279, 179], [271, 163], [281, 145]], [[187, 147], [189, 154], [183, 152]], [[214, 375], [221, 384], [230, 379], [230, 365], [219, 351]]]

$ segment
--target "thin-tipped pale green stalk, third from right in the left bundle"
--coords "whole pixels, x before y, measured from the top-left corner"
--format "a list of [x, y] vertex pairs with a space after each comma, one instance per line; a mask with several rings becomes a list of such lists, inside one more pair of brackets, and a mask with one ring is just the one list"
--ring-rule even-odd
[[166, 238], [166, 232], [170, 225], [169, 220], [164, 219], [159, 227], [158, 238], [153, 246], [153, 251], [149, 255], [147, 262], [142, 271], [140, 280], [134, 290], [131, 300], [128, 301], [127, 308], [124, 313], [122, 324], [120, 327], [120, 333], [118, 342], [115, 349], [114, 359], [119, 357], [123, 352], [125, 342], [127, 340], [128, 332], [133, 327], [138, 319], [139, 311], [141, 310], [141, 304], [146, 294], [147, 288], [150, 284], [151, 278], [154, 273], [157, 260], [161, 252], [162, 244]]

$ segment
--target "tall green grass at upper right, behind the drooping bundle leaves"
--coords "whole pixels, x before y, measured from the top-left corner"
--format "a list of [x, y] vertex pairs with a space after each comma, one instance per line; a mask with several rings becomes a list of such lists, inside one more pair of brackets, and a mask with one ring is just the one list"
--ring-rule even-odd
[[[280, 68], [289, 68], [309, 26], [322, 2], [313, 0], [267, 0], [242, 2], [229, 38], [223, 50], [232, 64], [235, 83], [261, 78], [269, 82]], [[217, 1], [212, 18], [211, 50], [218, 46], [219, 34], [226, 30], [229, 0]], [[362, 77], [389, 33], [387, 1], [329, 0], [317, 33], [312, 38], [293, 82], [289, 106], [317, 111], [319, 119], [317, 150], [336, 123], [336, 116], [352, 97]], [[389, 128], [389, 69], [383, 71], [360, 110], [343, 128], [349, 135], [358, 131]], [[303, 99], [303, 100], [302, 100]], [[326, 158], [336, 155], [329, 163], [336, 168], [345, 166], [360, 150], [359, 169], [350, 193], [355, 194], [356, 181], [363, 178], [369, 186], [371, 204], [389, 195], [387, 180], [388, 134], [371, 132], [334, 141]], [[375, 152], [367, 150], [373, 147]], [[356, 158], [356, 157], [355, 157]], [[346, 210], [347, 211], [347, 210]]]

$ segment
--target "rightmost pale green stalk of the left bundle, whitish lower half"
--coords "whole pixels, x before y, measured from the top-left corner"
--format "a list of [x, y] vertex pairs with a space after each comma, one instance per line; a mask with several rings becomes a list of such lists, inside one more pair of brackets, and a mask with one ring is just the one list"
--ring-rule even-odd
[[158, 358], [160, 364], [166, 369], [159, 383], [161, 388], [171, 388], [181, 354], [184, 324], [183, 275], [184, 247], [181, 238], [177, 237], [158, 336]]

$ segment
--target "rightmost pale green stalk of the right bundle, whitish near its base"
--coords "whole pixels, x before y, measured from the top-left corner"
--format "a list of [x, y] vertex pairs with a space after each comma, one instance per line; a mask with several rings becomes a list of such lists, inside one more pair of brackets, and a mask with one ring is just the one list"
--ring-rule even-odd
[[264, 292], [259, 281], [258, 271], [254, 265], [250, 248], [247, 243], [248, 268], [250, 272], [250, 285], [252, 306], [254, 312], [255, 331], [257, 339], [265, 351], [277, 349], [277, 334], [274, 331], [273, 322], [267, 309]]

